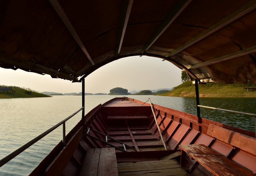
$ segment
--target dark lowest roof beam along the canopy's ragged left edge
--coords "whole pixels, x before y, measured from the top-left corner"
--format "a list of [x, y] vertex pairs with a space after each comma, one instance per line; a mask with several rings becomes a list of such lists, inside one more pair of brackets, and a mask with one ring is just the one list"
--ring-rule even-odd
[[35, 73], [42, 73], [42, 74], [45, 73], [47, 75], [51, 75], [53, 77], [58, 77], [58, 78], [62, 78], [62, 79], [67, 79], [67, 80], [72, 80], [72, 81], [78, 80], [74, 76], [70, 76], [66, 73], [54, 70], [52, 68], [46, 67], [41, 64], [37, 64], [35, 62], [29, 62], [29, 61], [25, 61], [25, 60], [20, 60], [20, 59], [0, 55], [0, 63], [13, 65], [16, 68], [20, 68], [20, 69], [24, 69], [24, 70], [33, 70], [33, 72], [35, 72]]

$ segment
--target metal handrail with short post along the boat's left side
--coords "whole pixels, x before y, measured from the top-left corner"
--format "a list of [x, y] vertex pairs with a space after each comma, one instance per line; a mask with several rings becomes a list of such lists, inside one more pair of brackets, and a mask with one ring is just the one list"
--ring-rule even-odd
[[9, 162], [10, 160], [12, 160], [14, 157], [16, 157], [18, 154], [20, 154], [21, 152], [23, 152], [24, 150], [26, 150], [27, 148], [29, 148], [33, 144], [35, 144], [38, 140], [42, 139], [47, 134], [51, 133], [53, 130], [55, 130], [57, 127], [59, 127], [62, 124], [63, 124], [63, 144], [64, 144], [65, 137], [66, 137], [66, 135], [65, 135], [65, 122], [67, 120], [69, 120], [71, 117], [75, 116], [79, 111], [81, 111], [84, 108], [85, 107], [81, 107], [78, 111], [76, 111], [75, 113], [73, 113], [72, 115], [70, 115], [69, 117], [64, 119], [63, 121], [59, 122], [58, 124], [54, 125], [49, 130], [45, 131], [44, 133], [40, 134], [39, 136], [35, 137], [34, 139], [28, 141], [26, 144], [23, 144], [22, 146], [20, 146], [16, 150], [14, 150], [14, 151], [10, 152], [9, 154], [5, 155], [3, 158], [0, 159], [0, 167], [3, 166], [4, 164], [6, 164], [7, 162]]

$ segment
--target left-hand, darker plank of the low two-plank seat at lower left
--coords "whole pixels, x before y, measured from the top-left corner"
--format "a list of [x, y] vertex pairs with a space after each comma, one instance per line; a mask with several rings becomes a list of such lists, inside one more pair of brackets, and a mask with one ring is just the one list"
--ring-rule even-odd
[[100, 149], [89, 149], [79, 176], [97, 176], [100, 158]]

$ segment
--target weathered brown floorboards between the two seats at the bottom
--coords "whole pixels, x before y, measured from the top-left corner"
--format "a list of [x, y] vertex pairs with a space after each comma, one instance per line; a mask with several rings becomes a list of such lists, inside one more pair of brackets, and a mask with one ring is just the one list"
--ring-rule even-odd
[[118, 163], [119, 175], [186, 175], [175, 160]]

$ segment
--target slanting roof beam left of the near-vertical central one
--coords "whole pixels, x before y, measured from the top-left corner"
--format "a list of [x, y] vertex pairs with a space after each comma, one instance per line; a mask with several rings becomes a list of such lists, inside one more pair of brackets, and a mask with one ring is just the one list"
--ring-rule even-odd
[[76, 30], [74, 29], [74, 27], [70, 23], [67, 15], [65, 14], [62, 7], [60, 6], [59, 2], [57, 0], [49, 0], [49, 1], [52, 4], [55, 11], [58, 13], [59, 17], [62, 19], [63, 23], [66, 25], [66, 27], [68, 28], [68, 30], [72, 34], [72, 36], [74, 37], [74, 39], [76, 40], [76, 42], [78, 43], [78, 45], [80, 46], [80, 48], [82, 49], [82, 51], [85, 53], [86, 57], [90, 60], [91, 64], [94, 66], [95, 64], [92, 61], [91, 56], [89, 55], [89, 53], [85, 49], [84, 44], [82, 43], [81, 39], [77, 35]]

